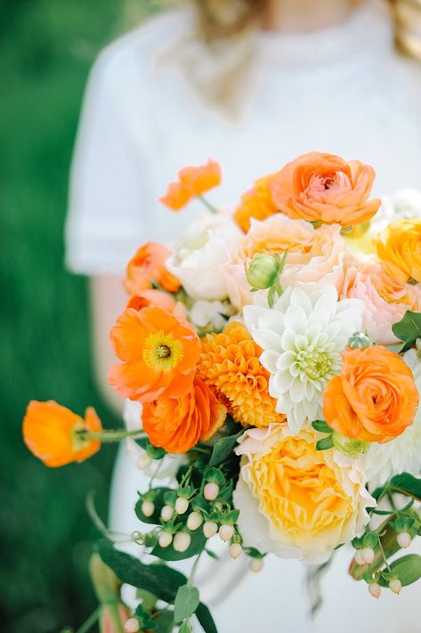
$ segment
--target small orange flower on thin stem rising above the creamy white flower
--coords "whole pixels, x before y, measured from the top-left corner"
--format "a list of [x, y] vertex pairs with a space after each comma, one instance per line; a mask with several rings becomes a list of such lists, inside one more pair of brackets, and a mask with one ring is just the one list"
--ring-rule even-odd
[[221, 178], [221, 166], [209, 158], [206, 165], [184, 167], [178, 173], [178, 181], [170, 183], [166, 195], [159, 200], [173, 211], [179, 211], [192, 198], [217, 187]]

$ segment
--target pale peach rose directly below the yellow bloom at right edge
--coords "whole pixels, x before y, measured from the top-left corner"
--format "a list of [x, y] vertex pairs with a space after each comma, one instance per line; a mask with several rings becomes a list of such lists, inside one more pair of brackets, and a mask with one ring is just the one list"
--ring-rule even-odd
[[421, 312], [421, 288], [392, 279], [378, 264], [351, 265], [345, 270], [340, 298], [361, 299], [362, 327], [373, 343], [393, 345], [392, 331], [407, 310]]

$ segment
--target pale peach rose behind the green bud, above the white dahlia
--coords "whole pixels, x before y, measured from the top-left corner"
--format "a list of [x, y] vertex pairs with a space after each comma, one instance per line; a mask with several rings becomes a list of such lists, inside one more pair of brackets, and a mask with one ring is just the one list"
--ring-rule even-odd
[[[251, 221], [251, 228], [239, 246], [230, 254], [230, 261], [223, 264], [228, 294], [237, 308], [253, 304], [254, 295], [247, 281], [247, 267], [258, 253], [287, 252], [287, 262], [282, 273], [282, 286], [294, 286], [301, 282], [323, 282], [338, 290], [343, 280], [342, 260], [344, 240], [340, 226], [321, 226], [314, 229], [304, 220], [291, 220], [286, 215], [275, 214], [262, 222]], [[267, 290], [257, 294], [266, 296]]]

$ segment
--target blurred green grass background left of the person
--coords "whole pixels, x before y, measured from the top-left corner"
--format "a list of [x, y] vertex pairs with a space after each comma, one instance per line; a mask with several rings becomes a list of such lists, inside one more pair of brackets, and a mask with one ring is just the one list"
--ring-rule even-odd
[[86, 564], [97, 533], [85, 496], [97, 491], [106, 515], [115, 449], [48, 469], [20, 426], [30, 399], [77, 413], [93, 404], [118, 424], [93, 385], [86, 282], [63, 269], [62, 231], [87, 73], [126, 9], [124, 0], [0, 4], [2, 631], [77, 629], [95, 606]]

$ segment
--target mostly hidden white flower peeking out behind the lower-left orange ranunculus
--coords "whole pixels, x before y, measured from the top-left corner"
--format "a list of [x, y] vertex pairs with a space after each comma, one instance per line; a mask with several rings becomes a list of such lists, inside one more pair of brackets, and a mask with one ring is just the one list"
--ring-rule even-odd
[[[127, 431], [142, 429], [142, 403], [126, 400], [123, 419], [125, 421], [125, 428]], [[127, 437], [125, 439], [125, 450], [129, 458], [134, 462], [135, 466], [142, 467], [147, 452], [133, 439], [133, 437]], [[151, 459], [149, 466], [145, 468], [142, 467], [142, 470], [145, 475], [148, 476], [155, 475], [156, 473], [155, 476], [157, 479], [173, 479], [177, 470], [182, 465], [182, 461], [182, 455], [168, 454], [163, 459]]]

